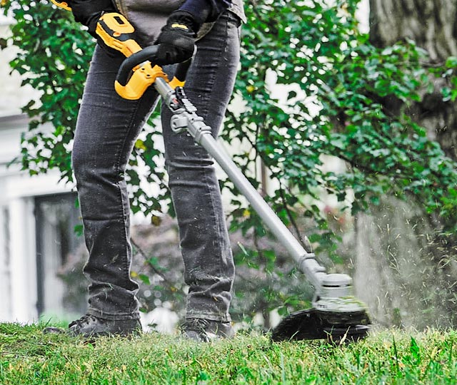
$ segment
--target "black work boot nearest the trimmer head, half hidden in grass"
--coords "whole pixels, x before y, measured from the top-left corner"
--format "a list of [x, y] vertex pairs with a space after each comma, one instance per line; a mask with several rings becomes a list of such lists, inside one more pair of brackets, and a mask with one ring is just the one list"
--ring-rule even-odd
[[181, 325], [184, 337], [197, 342], [211, 342], [215, 339], [232, 338], [235, 332], [230, 322], [211, 321], [210, 319], [188, 318]]

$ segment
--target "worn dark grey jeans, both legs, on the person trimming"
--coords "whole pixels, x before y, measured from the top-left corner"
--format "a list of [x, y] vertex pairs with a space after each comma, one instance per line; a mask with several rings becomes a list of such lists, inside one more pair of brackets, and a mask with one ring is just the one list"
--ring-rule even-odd
[[[233, 91], [239, 62], [238, 16], [227, 11], [197, 42], [186, 95], [216, 137]], [[89, 260], [88, 313], [103, 319], [137, 319], [139, 286], [130, 277], [129, 197], [124, 172], [134, 143], [158, 94], [151, 87], [139, 101], [114, 91], [122, 61], [99, 47], [89, 68], [79, 110], [72, 162]], [[187, 318], [229, 321], [233, 258], [221, 193], [209, 154], [186, 133], [170, 128], [161, 111], [169, 188], [179, 225], [184, 279], [189, 285]]]

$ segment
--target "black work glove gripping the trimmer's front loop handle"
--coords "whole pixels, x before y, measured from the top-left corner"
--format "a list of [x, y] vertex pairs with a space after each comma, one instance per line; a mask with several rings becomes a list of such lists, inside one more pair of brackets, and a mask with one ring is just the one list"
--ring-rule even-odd
[[156, 40], [159, 50], [154, 60], [159, 66], [181, 63], [194, 54], [199, 24], [186, 11], [174, 11]]

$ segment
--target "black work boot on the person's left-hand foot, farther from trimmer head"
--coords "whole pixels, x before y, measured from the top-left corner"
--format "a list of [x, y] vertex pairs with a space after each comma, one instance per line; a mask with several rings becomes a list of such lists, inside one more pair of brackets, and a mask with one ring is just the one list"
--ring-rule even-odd
[[66, 333], [72, 337], [129, 336], [141, 332], [139, 319], [101, 319], [86, 314], [69, 324], [67, 330], [46, 327], [44, 333]]

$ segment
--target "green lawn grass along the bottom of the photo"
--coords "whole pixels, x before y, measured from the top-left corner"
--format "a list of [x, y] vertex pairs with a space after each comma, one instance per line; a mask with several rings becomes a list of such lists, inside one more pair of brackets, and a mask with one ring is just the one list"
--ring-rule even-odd
[[0, 324], [0, 384], [456, 384], [457, 332], [373, 332], [348, 346], [156, 333], [94, 343]]

